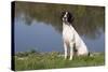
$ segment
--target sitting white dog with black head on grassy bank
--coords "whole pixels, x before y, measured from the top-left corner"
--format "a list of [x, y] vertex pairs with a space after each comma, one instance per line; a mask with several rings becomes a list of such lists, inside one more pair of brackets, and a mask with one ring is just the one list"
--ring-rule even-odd
[[69, 60], [72, 60], [75, 54], [78, 56], [89, 55], [89, 51], [86, 48], [85, 43], [72, 27], [72, 21], [73, 21], [72, 14], [70, 14], [69, 12], [63, 12], [62, 21], [63, 21], [63, 41], [65, 49], [65, 59], [67, 59], [68, 49], [70, 51]]

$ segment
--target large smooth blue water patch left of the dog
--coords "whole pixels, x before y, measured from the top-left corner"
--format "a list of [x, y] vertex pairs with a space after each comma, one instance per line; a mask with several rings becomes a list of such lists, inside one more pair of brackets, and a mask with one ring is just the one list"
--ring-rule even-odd
[[51, 25], [32, 20], [24, 25], [23, 19], [15, 20], [15, 52], [37, 49], [40, 52], [63, 51], [62, 34]]

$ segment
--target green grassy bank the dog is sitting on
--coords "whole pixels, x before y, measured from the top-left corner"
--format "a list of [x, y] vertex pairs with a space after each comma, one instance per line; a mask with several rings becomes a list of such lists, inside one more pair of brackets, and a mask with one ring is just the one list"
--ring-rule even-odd
[[93, 56], [75, 56], [72, 60], [65, 60], [58, 52], [36, 53], [25, 52], [15, 55], [15, 70], [39, 70], [39, 69], [59, 69], [76, 67], [104, 66], [105, 54], [92, 54]]

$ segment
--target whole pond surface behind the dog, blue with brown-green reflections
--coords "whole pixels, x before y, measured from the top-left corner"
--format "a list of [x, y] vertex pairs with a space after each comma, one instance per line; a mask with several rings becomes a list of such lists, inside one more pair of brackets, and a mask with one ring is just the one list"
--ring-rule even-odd
[[15, 52], [64, 52], [60, 11], [72, 11], [73, 27], [90, 52], [105, 52], [104, 6], [15, 3]]

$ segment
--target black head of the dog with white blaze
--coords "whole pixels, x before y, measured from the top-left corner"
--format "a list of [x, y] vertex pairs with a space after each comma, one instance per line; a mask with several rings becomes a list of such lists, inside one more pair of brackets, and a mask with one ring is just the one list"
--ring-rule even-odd
[[72, 23], [73, 21], [73, 16], [70, 12], [62, 12], [62, 20], [64, 23]]

